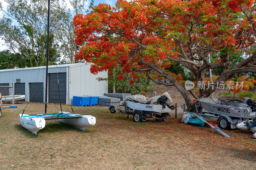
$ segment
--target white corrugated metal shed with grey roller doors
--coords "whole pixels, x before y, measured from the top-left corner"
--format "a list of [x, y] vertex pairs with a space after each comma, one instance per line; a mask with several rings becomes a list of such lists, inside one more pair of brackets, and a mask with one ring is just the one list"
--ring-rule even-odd
[[[57, 77], [60, 85], [61, 103], [72, 104], [73, 96], [102, 96], [108, 93], [108, 82], [98, 81], [107, 78], [107, 72], [94, 75], [90, 72], [92, 63], [75, 63], [48, 66], [48, 102], [60, 103]], [[25, 94], [26, 102], [44, 102], [45, 66], [12, 68], [0, 70], [0, 85], [15, 85], [15, 95]], [[57, 74], [58, 73], [58, 74]]]

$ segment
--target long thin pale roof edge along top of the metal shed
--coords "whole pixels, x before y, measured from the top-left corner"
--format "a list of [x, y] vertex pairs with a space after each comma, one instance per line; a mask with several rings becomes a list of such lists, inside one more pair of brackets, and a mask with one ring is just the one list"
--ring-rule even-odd
[[[77, 66], [83, 66], [83, 65], [88, 65], [88, 64], [92, 64], [92, 63], [73, 63], [73, 64], [51, 65], [51, 66], [48, 66], [48, 68], [56, 68], [56, 67], [77, 67]], [[32, 69], [43, 69], [43, 68], [46, 68], [46, 66], [3, 69], [3, 70], [0, 70], [0, 72], [5, 72], [5, 71], [18, 71], [18, 70], [32, 70]]]

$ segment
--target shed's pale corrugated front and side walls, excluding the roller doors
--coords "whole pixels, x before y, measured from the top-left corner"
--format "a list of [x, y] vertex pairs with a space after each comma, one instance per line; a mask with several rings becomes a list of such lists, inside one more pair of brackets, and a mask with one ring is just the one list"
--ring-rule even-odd
[[[48, 68], [48, 73], [67, 73], [67, 104], [72, 104], [73, 96], [102, 96], [104, 93], [108, 93], [108, 82], [96, 80], [97, 77], [107, 78], [108, 73], [100, 72], [94, 75], [91, 74], [90, 67], [91, 64], [77, 63], [65, 65], [65, 67], [58, 65], [58, 67]], [[0, 83], [10, 83], [12, 86], [16, 79], [20, 79], [21, 83], [25, 83], [25, 101], [27, 102], [29, 101], [29, 83], [43, 82], [45, 84], [45, 68], [10, 70], [0, 71]]]

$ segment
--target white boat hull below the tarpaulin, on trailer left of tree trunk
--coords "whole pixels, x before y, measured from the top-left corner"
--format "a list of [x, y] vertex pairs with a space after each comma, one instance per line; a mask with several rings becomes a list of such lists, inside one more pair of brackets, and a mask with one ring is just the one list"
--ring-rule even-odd
[[134, 103], [129, 100], [126, 101], [126, 104], [129, 108], [134, 110], [142, 110], [142, 111], [150, 111], [150, 112], [158, 112], [158, 113], [168, 113], [171, 111], [170, 108], [167, 106], [163, 108], [160, 104], [141, 104], [141, 103]]

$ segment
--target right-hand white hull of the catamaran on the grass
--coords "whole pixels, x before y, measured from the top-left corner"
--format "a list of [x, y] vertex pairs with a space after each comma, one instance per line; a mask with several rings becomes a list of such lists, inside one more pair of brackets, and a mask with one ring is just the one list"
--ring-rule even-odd
[[[68, 112], [63, 112], [63, 113], [66, 114]], [[81, 116], [81, 115], [71, 114], [69, 116]], [[82, 118], [70, 118], [70, 119], [67, 118], [67, 119], [59, 119], [59, 120], [64, 124], [68, 124], [82, 131], [85, 131], [87, 127], [90, 127], [96, 124], [96, 118], [91, 115], [82, 115]]]

